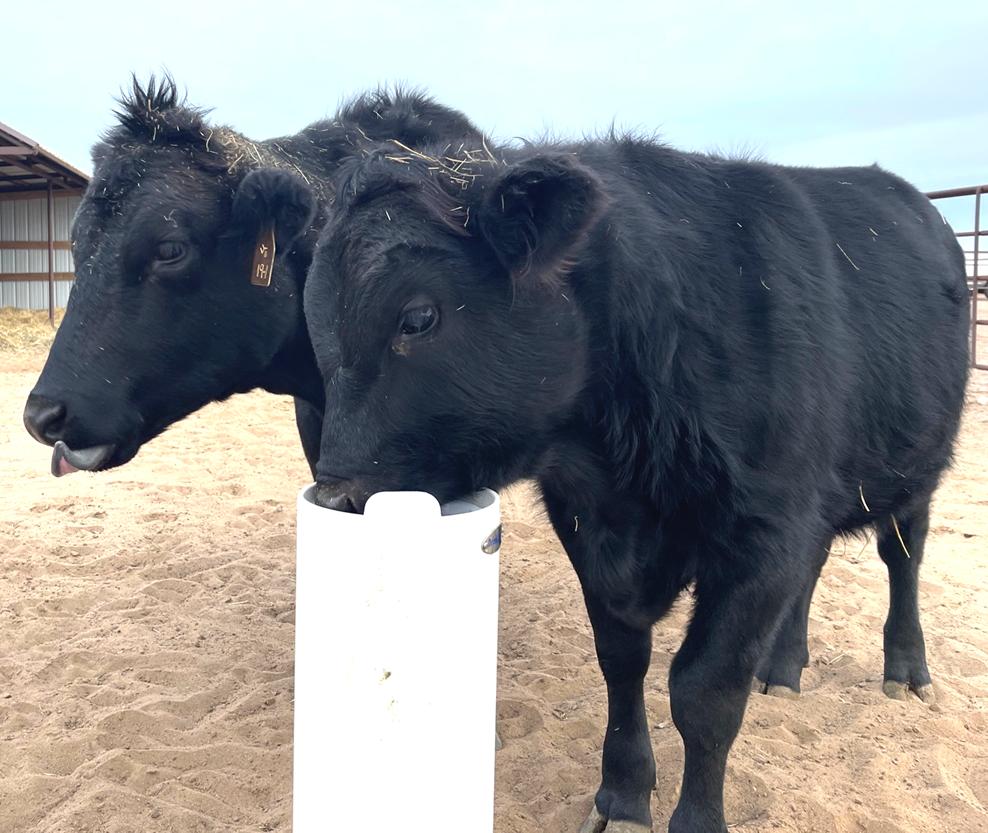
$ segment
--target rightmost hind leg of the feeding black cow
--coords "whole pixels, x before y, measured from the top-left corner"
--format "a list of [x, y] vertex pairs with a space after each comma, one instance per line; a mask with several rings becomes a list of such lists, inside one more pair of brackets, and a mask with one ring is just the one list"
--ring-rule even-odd
[[928, 500], [909, 514], [896, 516], [895, 523], [889, 518], [876, 524], [878, 554], [889, 571], [889, 614], [885, 620], [885, 681], [882, 690], [895, 700], [905, 700], [910, 691], [924, 703], [936, 700], [926, 667], [923, 628], [919, 623], [919, 567], [929, 528]]

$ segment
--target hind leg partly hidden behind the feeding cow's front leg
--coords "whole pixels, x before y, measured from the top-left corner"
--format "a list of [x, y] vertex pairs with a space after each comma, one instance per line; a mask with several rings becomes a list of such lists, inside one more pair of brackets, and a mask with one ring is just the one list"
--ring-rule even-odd
[[810, 650], [807, 645], [810, 601], [820, 579], [820, 571], [827, 562], [829, 547], [829, 542], [824, 542], [818, 548], [810, 580], [783, 614], [775, 637], [755, 671], [752, 691], [774, 697], [794, 698], [799, 695], [800, 677], [803, 669], [810, 664]]

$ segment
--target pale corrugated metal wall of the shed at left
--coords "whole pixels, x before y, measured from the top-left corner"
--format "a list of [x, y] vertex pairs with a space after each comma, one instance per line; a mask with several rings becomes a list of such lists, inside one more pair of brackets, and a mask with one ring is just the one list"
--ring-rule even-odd
[[[55, 240], [68, 241], [72, 218], [81, 197], [58, 196], [55, 192]], [[48, 240], [47, 195], [37, 199], [0, 198], [0, 242]], [[72, 253], [55, 250], [55, 272], [72, 272]], [[48, 309], [48, 250], [0, 248], [0, 275], [38, 273], [41, 280], [0, 281], [0, 307]], [[55, 281], [55, 306], [64, 307], [71, 281]]]

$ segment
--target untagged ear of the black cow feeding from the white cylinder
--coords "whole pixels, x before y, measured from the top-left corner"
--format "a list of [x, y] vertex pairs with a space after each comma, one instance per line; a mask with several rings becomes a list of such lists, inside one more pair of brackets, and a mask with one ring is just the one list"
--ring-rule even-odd
[[554, 283], [605, 205], [603, 186], [569, 154], [511, 165], [485, 194], [480, 233], [516, 281]]

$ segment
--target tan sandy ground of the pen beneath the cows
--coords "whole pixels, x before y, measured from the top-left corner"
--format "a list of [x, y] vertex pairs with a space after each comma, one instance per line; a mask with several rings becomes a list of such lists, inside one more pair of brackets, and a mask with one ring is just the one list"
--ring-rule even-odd
[[[0, 353], [0, 833], [287, 833], [293, 500], [307, 479], [289, 402], [211, 406], [123, 469], [56, 480], [20, 428], [42, 361], [37, 347]], [[981, 372], [922, 582], [938, 703], [881, 694], [884, 568], [871, 545], [838, 547], [802, 698], [750, 702], [732, 830], [988, 830], [986, 428]], [[596, 787], [603, 684], [531, 490], [506, 495], [504, 515], [496, 830], [574, 833]], [[657, 830], [679, 786], [666, 677], [687, 613], [656, 628], [647, 683]], [[428, 829], [387, 810], [375, 830]]]

